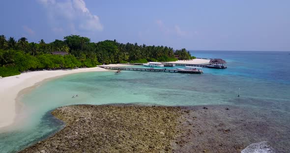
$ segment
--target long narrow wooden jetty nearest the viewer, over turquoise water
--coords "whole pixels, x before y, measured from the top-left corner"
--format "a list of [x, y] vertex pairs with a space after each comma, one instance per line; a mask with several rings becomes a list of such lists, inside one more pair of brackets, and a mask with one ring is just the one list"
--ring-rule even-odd
[[186, 73], [186, 74], [202, 74], [202, 70], [175, 70], [175, 69], [145, 69], [145, 68], [120, 68], [120, 67], [110, 67], [110, 66], [98, 66], [104, 69], [111, 70], [124, 70], [124, 71], [147, 71], [147, 72], [170, 72], [170, 73]]

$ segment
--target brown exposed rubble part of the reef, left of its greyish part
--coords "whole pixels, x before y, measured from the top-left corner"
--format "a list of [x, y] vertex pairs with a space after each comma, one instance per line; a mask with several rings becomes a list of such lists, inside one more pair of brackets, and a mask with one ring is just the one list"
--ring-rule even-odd
[[21, 153], [172, 152], [180, 112], [160, 106], [63, 106], [52, 114], [65, 128]]

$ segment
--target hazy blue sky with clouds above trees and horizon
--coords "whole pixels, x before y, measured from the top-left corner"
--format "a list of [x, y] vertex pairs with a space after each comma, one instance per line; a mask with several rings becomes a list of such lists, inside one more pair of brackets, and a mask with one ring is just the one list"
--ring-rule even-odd
[[290, 51], [290, 0], [0, 0], [0, 35], [174, 49]]

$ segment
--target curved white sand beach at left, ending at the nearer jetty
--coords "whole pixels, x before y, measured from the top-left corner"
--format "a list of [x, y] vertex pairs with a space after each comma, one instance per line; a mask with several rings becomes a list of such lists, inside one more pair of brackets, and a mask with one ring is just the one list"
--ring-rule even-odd
[[[112, 65], [114, 66], [114, 65]], [[18, 93], [44, 79], [81, 72], [107, 71], [99, 67], [74, 70], [33, 71], [0, 79], [0, 128], [11, 125], [16, 117]]]

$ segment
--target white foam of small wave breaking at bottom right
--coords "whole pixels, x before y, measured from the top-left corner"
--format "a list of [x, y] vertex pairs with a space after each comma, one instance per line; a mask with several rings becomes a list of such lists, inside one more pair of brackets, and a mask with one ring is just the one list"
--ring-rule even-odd
[[268, 146], [267, 141], [254, 143], [242, 150], [241, 153], [275, 153], [272, 147]]

